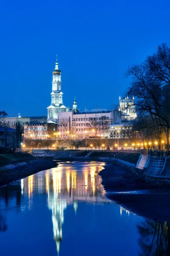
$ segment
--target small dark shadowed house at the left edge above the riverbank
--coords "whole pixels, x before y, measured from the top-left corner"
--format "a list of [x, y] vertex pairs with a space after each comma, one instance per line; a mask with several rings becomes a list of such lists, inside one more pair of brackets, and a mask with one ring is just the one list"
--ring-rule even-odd
[[9, 127], [0, 127], [0, 147], [16, 148], [16, 130]]

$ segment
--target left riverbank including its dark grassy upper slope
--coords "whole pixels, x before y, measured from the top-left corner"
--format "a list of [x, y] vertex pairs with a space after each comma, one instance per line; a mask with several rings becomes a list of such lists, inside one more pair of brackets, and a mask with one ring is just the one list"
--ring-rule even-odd
[[[13, 154], [14, 155], [14, 154]], [[52, 159], [45, 158], [35, 158], [31, 155], [19, 155], [11, 156], [8, 155], [6, 160], [1, 162], [0, 169], [0, 186], [5, 186], [11, 182], [16, 180], [23, 179], [29, 175], [33, 175], [34, 173], [51, 169], [56, 167], [57, 161]], [[16, 159], [19, 159], [18, 161]], [[2, 160], [2, 157], [0, 158]], [[6, 163], [6, 165], [5, 165]], [[15, 168], [6, 168], [6, 166], [15, 166]]]

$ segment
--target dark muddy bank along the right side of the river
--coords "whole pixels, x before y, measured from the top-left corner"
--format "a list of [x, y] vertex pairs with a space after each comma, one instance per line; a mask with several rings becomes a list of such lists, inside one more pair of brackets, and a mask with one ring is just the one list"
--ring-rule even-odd
[[116, 164], [107, 164], [99, 175], [108, 199], [144, 218], [170, 221], [169, 185], [145, 182]]

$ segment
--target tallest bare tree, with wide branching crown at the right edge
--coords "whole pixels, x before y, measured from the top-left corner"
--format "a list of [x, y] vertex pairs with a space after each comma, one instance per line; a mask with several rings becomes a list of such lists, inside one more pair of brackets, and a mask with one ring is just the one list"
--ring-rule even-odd
[[[126, 77], [131, 76], [128, 94], [136, 96], [136, 111], [143, 117], [150, 114], [167, 133], [167, 149], [169, 149], [170, 129], [170, 48], [161, 44], [147, 56], [141, 64], [128, 68]], [[161, 140], [161, 137], [159, 138]]]

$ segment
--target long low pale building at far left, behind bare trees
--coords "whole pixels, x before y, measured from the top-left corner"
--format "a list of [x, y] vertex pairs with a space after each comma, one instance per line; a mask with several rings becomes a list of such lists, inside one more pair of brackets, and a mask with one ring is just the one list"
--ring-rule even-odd
[[20, 122], [22, 125], [29, 124], [30, 117], [21, 117], [20, 114], [18, 117], [6, 117], [3, 119], [2, 125], [15, 129], [17, 122]]

